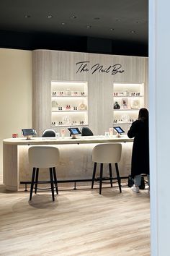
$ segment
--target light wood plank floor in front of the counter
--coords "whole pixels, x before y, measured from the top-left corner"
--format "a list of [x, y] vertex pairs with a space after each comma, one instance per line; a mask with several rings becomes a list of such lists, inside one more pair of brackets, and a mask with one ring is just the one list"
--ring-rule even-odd
[[128, 187], [6, 192], [0, 185], [0, 255], [149, 256], [150, 198]]

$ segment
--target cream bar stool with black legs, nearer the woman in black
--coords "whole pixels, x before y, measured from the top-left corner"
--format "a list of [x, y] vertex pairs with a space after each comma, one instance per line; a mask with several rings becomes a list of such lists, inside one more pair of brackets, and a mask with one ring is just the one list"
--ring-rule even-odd
[[120, 174], [118, 163], [120, 162], [120, 158], [122, 155], [122, 145], [120, 143], [101, 143], [96, 145], [92, 150], [92, 161], [94, 162], [94, 170], [91, 182], [91, 189], [94, 187], [94, 182], [97, 181], [95, 179], [97, 163], [100, 163], [100, 176], [99, 176], [99, 194], [102, 194], [102, 180], [103, 180], [103, 164], [109, 164], [109, 179], [112, 187], [112, 163], [115, 163], [115, 169], [117, 174], [117, 182], [119, 184], [120, 193], [121, 182], [120, 182]]

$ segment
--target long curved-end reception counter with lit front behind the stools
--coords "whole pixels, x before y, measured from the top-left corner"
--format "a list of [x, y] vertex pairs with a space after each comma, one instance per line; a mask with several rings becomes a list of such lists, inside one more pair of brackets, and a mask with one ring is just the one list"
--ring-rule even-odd
[[[93, 163], [91, 150], [98, 143], [121, 142], [122, 158], [120, 162], [120, 176], [130, 173], [131, 149], [133, 139], [127, 135], [116, 136], [88, 136], [72, 139], [71, 137], [24, 137], [3, 140], [3, 182], [6, 189], [18, 191], [20, 182], [30, 182], [32, 170], [28, 163], [28, 148], [31, 145], [53, 145], [59, 148], [61, 160], [57, 166], [58, 179], [91, 179]], [[126, 143], [128, 142], [128, 143]], [[107, 170], [106, 170], [107, 171]], [[42, 178], [45, 177], [42, 171]]]

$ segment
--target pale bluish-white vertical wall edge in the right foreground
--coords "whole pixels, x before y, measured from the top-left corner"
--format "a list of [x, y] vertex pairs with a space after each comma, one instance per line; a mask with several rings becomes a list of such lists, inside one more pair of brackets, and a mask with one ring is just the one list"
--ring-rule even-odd
[[149, 2], [151, 255], [169, 256], [169, 0]]

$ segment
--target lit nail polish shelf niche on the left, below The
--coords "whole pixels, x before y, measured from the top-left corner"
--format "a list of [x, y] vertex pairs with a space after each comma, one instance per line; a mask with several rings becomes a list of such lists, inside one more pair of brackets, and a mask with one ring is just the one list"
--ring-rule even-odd
[[88, 125], [87, 82], [52, 81], [51, 91], [51, 126]]

